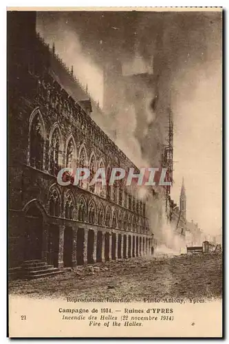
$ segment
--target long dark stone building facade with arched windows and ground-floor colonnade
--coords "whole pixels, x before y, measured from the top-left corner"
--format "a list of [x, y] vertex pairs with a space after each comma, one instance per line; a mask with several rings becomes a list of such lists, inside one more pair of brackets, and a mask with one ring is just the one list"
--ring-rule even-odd
[[107, 177], [138, 169], [91, 119], [72, 71], [37, 36], [34, 12], [8, 14], [8, 41], [9, 268], [151, 254], [146, 203], [131, 187], [57, 184], [65, 166], [104, 167]]

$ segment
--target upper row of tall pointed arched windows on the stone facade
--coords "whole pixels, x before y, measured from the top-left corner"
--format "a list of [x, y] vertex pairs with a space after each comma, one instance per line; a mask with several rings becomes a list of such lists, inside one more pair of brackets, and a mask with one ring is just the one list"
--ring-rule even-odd
[[[140, 215], [144, 215], [144, 202], [138, 201], [134, 195], [131, 195], [127, 187], [123, 186], [122, 181], [116, 182], [113, 186], [102, 185], [98, 182], [94, 185], [89, 185], [94, 174], [98, 168], [105, 168], [102, 160], [97, 162], [96, 155], [91, 153], [91, 157], [87, 158], [87, 150], [82, 144], [79, 149], [79, 154], [76, 152], [76, 143], [74, 137], [71, 135], [63, 143], [63, 136], [61, 129], [56, 123], [50, 131], [49, 147], [47, 153], [45, 152], [45, 142], [47, 141], [47, 134], [45, 131], [45, 124], [39, 109], [33, 111], [30, 116], [30, 135], [28, 146], [28, 164], [36, 169], [45, 168], [45, 156], [48, 155], [49, 164], [48, 170], [52, 175], [57, 175], [63, 166], [69, 168], [76, 168], [77, 166], [84, 168], [89, 167], [89, 180], [80, 180], [79, 186], [83, 189], [89, 190], [91, 193], [96, 193], [100, 197], [107, 197], [107, 200], [120, 204], [129, 210], [134, 211]], [[107, 181], [111, 177], [111, 167], [108, 166], [106, 173]]]

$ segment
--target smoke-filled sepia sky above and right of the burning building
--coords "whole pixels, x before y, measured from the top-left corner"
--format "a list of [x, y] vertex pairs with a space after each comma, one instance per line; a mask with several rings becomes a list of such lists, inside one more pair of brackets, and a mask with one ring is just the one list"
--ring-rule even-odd
[[[91, 95], [101, 103], [102, 72], [109, 64], [115, 103], [109, 111], [110, 123], [119, 133], [116, 143], [129, 158], [142, 158], [143, 147], [145, 160], [153, 166], [160, 160], [168, 131], [166, 109], [171, 107], [172, 196], [178, 203], [184, 176], [188, 219], [209, 233], [221, 226], [221, 17], [221, 12], [208, 11], [37, 13], [37, 30], [47, 43], [55, 42], [63, 61], [74, 65], [82, 83], [88, 83]], [[142, 78], [134, 78], [125, 86], [127, 94], [111, 67], [133, 66], [134, 56], [138, 63], [133, 74], [142, 65], [151, 72], [153, 58], [155, 83], [146, 85]], [[157, 107], [152, 111], [149, 103], [155, 96]]]

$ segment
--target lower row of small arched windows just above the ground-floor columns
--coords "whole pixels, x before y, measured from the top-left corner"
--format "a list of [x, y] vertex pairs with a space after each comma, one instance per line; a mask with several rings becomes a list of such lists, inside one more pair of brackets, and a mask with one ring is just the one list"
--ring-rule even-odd
[[[49, 195], [49, 211], [51, 216], [61, 216], [61, 194], [58, 189], [52, 189]], [[146, 232], [146, 223], [141, 217], [128, 214], [122, 211], [116, 211], [116, 208], [107, 206], [102, 203], [96, 204], [94, 200], [90, 200], [87, 206], [85, 197], [81, 195], [77, 204], [71, 192], [65, 193], [64, 197], [64, 213], [66, 219], [74, 219], [80, 222], [89, 222], [90, 224], [98, 224], [112, 228], [124, 230], [133, 230], [140, 233]]]

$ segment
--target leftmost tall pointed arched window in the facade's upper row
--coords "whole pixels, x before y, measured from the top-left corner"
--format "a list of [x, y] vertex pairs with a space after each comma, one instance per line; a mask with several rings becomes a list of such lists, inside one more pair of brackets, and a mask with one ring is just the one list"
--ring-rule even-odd
[[43, 168], [44, 139], [39, 116], [35, 116], [30, 129], [30, 165], [36, 169]]

